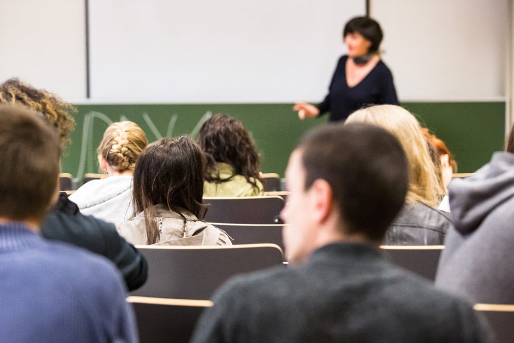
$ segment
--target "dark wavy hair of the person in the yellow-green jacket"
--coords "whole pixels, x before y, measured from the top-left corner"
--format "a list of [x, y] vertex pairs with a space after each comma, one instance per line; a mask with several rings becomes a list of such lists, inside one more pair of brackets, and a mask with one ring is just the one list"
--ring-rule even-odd
[[[243, 175], [255, 188], [259, 176], [259, 154], [255, 142], [243, 123], [235, 118], [216, 114], [200, 128], [200, 147], [206, 153], [205, 179], [209, 182], [226, 182], [234, 175]], [[224, 162], [234, 168], [234, 174], [221, 178], [216, 162]]]

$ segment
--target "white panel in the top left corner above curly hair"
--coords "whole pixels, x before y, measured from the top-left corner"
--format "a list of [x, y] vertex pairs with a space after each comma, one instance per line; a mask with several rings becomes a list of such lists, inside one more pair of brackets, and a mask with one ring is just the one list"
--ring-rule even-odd
[[85, 98], [83, 0], [3, 1], [0, 83], [19, 77], [68, 100]]

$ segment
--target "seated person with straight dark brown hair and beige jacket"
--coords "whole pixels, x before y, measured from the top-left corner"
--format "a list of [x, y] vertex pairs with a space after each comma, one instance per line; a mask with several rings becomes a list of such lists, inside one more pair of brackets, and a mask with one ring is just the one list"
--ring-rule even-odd
[[118, 232], [132, 244], [232, 245], [204, 221], [204, 159], [188, 136], [161, 138], [139, 155], [134, 169], [132, 220]]

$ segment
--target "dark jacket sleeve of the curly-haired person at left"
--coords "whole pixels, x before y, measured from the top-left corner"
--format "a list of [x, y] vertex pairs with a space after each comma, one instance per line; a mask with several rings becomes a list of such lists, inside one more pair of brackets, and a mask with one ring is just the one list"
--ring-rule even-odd
[[116, 232], [113, 224], [83, 215], [66, 193], [41, 226], [44, 238], [85, 248], [111, 260], [120, 270], [129, 291], [141, 287], [148, 277], [148, 264], [137, 249]]

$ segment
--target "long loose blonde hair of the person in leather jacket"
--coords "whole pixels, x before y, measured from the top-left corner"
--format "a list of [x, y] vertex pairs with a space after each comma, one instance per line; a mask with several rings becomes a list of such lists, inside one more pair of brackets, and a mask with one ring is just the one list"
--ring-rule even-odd
[[409, 165], [409, 191], [407, 203], [420, 202], [437, 206], [438, 195], [445, 194], [441, 187], [427, 140], [414, 115], [396, 105], [375, 105], [354, 112], [346, 122], [365, 122], [391, 132], [400, 142]]

